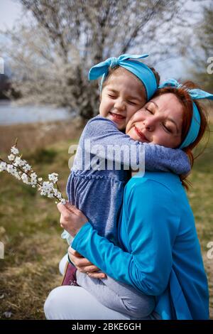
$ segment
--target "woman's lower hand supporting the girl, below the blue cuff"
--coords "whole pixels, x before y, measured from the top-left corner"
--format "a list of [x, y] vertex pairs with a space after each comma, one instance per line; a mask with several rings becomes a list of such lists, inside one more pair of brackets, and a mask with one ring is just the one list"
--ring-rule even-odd
[[68, 248], [68, 254], [70, 260], [75, 264], [78, 271], [82, 273], [87, 273], [89, 277], [93, 279], [106, 279], [107, 275], [104, 273], [97, 272], [100, 269], [97, 266], [94, 266], [92, 262], [89, 262], [85, 257], [75, 251], [72, 247]]

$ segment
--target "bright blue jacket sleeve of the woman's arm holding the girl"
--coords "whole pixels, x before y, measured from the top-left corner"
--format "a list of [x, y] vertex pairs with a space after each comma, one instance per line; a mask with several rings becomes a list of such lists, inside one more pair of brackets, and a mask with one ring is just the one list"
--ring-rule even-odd
[[72, 247], [112, 278], [158, 296], [168, 285], [179, 217], [173, 214], [170, 191], [153, 183], [134, 187], [124, 204], [120, 223], [125, 224], [129, 252], [99, 236], [89, 222]]

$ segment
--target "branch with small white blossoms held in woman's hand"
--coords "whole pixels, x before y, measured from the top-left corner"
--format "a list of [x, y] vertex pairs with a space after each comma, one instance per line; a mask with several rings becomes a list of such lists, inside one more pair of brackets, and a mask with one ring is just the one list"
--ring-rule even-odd
[[[58, 174], [52, 173], [48, 175], [49, 181], [43, 181], [43, 178], [38, 178], [37, 174], [33, 171], [31, 165], [26, 160], [23, 160], [18, 156], [17, 139], [16, 144], [11, 147], [11, 154], [8, 156], [9, 161], [4, 161], [0, 158], [0, 172], [7, 171], [9, 174], [23, 181], [27, 185], [31, 185], [33, 188], [38, 188], [40, 195], [48, 196], [48, 198], [55, 198], [57, 203], [65, 204], [66, 200], [62, 198], [58, 187]], [[55, 188], [55, 185], [57, 188]]]

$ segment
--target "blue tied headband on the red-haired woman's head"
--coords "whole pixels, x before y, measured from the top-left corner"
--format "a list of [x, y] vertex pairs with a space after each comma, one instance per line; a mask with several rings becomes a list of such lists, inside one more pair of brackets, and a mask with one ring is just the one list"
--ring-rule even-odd
[[187, 136], [185, 137], [182, 144], [179, 146], [179, 149], [183, 149], [184, 147], [187, 147], [190, 144], [192, 144], [197, 139], [197, 136], [200, 131], [200, 112], [197, 109], [195, 102], [193, 102], [193, 99], [213, 99], [213, 95], [208, 92], [204, 92], [204, 90], [199, 90], [199, 89], [190, 90], [184, 85], [180, 85], [180, 83], [175, 79], [166, 80], [158, 88], [163, 88], [163, 87], [184, 88], [192, 99], [192, 105], [193, 105], [192, 122], [190, 124], [190, 129], [187, 133]]

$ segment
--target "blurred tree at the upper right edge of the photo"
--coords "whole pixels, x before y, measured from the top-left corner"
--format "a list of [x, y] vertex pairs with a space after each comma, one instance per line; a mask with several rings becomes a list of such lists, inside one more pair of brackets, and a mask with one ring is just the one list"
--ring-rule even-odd
[[[213, 4], [205, 6], [200, 25], [194, 33], [197, 43], [194, 45], [192, 59], [192, 75], [203, 89], [213, 93]], [[195, 48], [199, 50], [195, 54]]]

